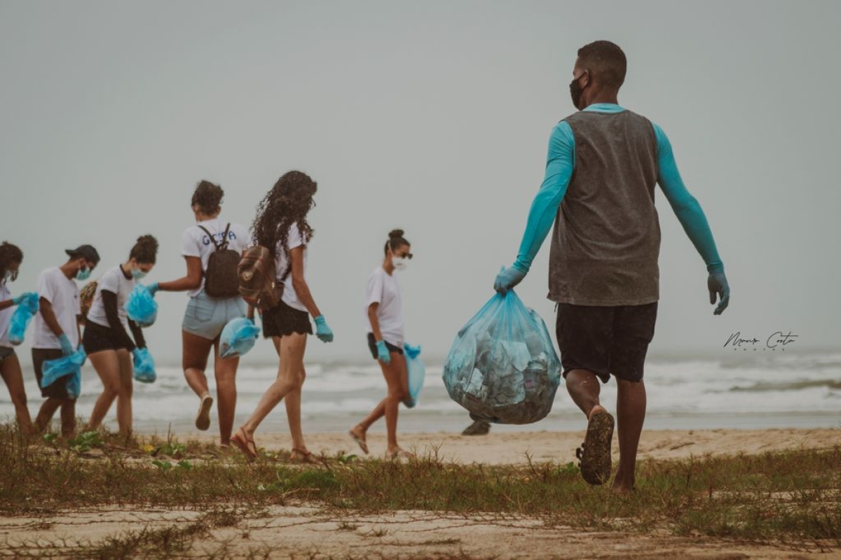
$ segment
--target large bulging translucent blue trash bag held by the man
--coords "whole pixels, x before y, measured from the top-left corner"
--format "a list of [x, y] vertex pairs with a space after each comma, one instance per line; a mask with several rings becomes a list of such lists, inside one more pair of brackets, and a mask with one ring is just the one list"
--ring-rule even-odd
[[473, 420], [528, 424], [552, 410], [561, 377], [546, 324], [509, 290], [496, 294], [458, 332], [444, 385]]

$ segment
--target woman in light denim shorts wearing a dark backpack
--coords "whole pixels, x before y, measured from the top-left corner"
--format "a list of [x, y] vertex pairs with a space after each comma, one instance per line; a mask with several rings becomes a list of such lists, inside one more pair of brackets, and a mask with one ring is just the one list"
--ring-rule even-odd
[[[210, 255], [220, 249], [243, 253], [248, 248], [248, 230], [238, 223], [220, 219], [222, 197], [225, 191], [210, 181], [201, 181], [193, 191], [193, 216], [196, 224], [184, 230], [181, 252], [187, 264], [187, 275], [149, 286], [154, 294], [161, 291], [187, 291], [190, 301], [182, 322], [182, 367], [184, 377], [198, 395], [198, 413], [195, 425], [199, 430], [210, 427], [210, 396], [208, 379], [204, 374], [210, 350], [214, 351], [216, 396], [219, 399], [220, 444], [230, 445], [230, 432], [234, 427], [236, 409], [236, 368], [239, 358], [220, 358], [220, 334], [225, 325], [238, 317], [246, 316], [246, 302], [235, 296], [210, 296], [205, 290], [205, 278]], [[234, 280], [236, 280], [234, 278]]]

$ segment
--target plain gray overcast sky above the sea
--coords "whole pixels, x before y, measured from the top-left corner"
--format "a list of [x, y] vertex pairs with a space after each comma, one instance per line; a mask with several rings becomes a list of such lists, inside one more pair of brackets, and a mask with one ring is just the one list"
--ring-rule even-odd
[[[516, 256], [548, 135], [574, 112], [576, 50], [610, 39], [628, 58], [620, 103], [669, 135], [733, 289], [713, 317], [658, 192], [652, 352], [716, 356], [732, 332], [777, 330], [838, 348], [839, 20], [817, 1], [3, 0], [0, 239], [24, 250], [11, 287], [81, 243], [103, 256], [96, 278], [143, 233], [161, 243], [149, 281], [173, 280], [197, 181], [250, 227], [297, 169], [319, 184], [308, 280], [336, 332], [308, 359], [364, 358], [366, 279], [395, 227], [415, 253], [399, 273], [407, 339], [442, 355]], [[517, 291], [554, 332], [547, 257], [545, 243]], [[187, 296], [157, 299], [150, 348], [177, 359]]]

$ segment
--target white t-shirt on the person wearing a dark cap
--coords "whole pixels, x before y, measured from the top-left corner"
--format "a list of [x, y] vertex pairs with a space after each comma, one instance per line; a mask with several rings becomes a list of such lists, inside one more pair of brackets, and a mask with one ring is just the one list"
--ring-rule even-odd
[[[38, 275], [38, 296], [52, 305], [59, 327], [70, 339], [73, 348], [79, 346], [77, 315], [79, 308], [79, 288], [76, 280], [67, 278], [61, 269], [47, 269]], [[50, 331], [40, 312], [35, 314], [35, 338], [32, 348], [61, 349], [58, 337]]]

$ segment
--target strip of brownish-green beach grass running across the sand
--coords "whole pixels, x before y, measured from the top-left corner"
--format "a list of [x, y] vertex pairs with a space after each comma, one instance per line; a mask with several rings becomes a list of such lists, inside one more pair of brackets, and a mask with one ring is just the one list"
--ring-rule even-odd
[[209, 527], [235, 526], [270, 505], [531, 516], [582, 530], [841, 545], [841, 446], [646, 460], [631, 495], [584, 483], [573, 463], [449, 463], [433, 452], [403, 461], [337, 455], [300, 465], [288, 453], [265, 451], [247, 463], [235, 450], [174, 437], [89, 432], [27, 442], [13, 425], [0, 425], [0, 465], [3, 516], [105, 505], [205, 512], [176, 532], [135, 531], [99, 545], [118, 552], [150, 542], [186, 546]]

